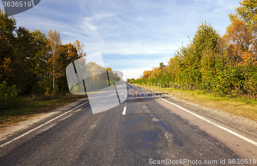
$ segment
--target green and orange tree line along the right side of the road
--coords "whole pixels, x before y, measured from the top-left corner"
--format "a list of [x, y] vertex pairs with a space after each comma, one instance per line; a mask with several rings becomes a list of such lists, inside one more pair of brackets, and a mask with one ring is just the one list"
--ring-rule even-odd
[[226, 33], [211, 24], [198, 26], [186, 46], [176, 50], [168, 65], [144, 71], [134, 84], [190, 89], [227, 96], [257, 97], [257, 2], [244, 0], [230, 13]]

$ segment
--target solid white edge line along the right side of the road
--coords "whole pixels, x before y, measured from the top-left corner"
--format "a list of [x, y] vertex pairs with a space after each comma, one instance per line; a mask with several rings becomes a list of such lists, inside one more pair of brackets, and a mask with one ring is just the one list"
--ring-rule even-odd
[[[166, 102], [169, 102], [169, 101], [167, 101], [166, 99], [163, 99], [163, 98], [160, 98], [160, 99], [162, 99], [162, 100], [164, 100], [164, 101], [166, 101]], [[207, 121], [207, 122], [213, 124], [214, 126], [216, 126], [216, 127], [218, 127], [218, 128], [221, 128], [221, 129], [223, 129], [223, 130], [225, 130], [225, 131], [227, 131], [227, 132], [229, 132], [229, 133], [231, 133], [231, 134], [233, 134], [233, 135], [235, 135], [235, 136], [237, 136], [237, 137], [239, 137], [239, 138], [242, 138], [242, 139], [246, 140], [247, 142], [249, 142], [249, 143], [251, 143], [251, 144], [254, 144], [255, 146], [257, 146], [257, 142], [255, 142], [255, 141], [253, 141], [253, 140], [251, 140], [251, 139], [249, 139], [249, 138], [246, 138], [246, 137], [244, 137], [243, 135], [237, 134], [236, 132], [233, 132], [233, 131], [231, 131], [231, 130], [229, 130], [229, 129], [227, 129], [227, 128], [224, 128], [224, 127], [222, 127], [222, 126], [220, 126], [220, 125], [218, 125], [218, 124], [216, 124], [216, 123], [214, 123], [214, 122], [212, 122], [212, 121], [210, 121], [210, 120], [208, 120], [208, 119], [206, 119], [206, 118], [204, 118], [204, 117], [201, 117], [201, 116], [199, 116], [199, 115], [197, 115], [197, 114], [195, 114], [195, 113], [193, 113], [193, 112], [191, 112], [191, 111], [188, 111], [188, 110], [186, 110], [186, 109], [184, 109], [184, 108], [182, 108], [182, 107], [179, 107], [179, 106], [175, 105], [175, 104], [172, 103], [172, 102], [169, 102], [169, 103], [172, 104], [172, 105], [174, 105], [174, 106], [176, 106], [176, 107], [178, 107], [178, 108], [180, 108], [180, 109], [182, 109], [182, 110], [184, 110], [184, 111], [186, 111], [186, 112], [188, 112], [188, 113], [190, 113], [190, 114], [193, 114], [193, 115], [197, 116], [197, 117], [200, 118], [200, 119], [203, 119], [203, 120], [205, 120], [205, 121]]]

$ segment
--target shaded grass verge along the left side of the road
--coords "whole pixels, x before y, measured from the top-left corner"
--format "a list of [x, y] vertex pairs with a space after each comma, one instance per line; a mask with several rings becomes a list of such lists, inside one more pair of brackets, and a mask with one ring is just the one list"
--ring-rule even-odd
[[29, 117], [52, 111], [86, 97], [85, 95], [72, 95], [70, 93], [60, 93], [57, 97], [48, 99], [36, 99], [34, 96], [26, 97], [24, 98], [26, 101], [24, 106], [0, 111], [0, 131], [15, 125], [17, 122], [27, 120]]

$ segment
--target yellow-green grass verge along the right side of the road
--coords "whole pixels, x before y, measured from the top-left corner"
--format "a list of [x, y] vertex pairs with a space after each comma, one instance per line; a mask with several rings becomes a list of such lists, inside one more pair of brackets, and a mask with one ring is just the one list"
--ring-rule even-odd
[[257, 99], [246, 96], [228, 97], [205, 92], [203, 90], [183, 90], [160, 88], [157, 86], [133, 85], [153, 91], [166, 92], [178, 99], [191, 101], [200, 106], [217, 109], [231, 115], [242, 116], [257, 121]]

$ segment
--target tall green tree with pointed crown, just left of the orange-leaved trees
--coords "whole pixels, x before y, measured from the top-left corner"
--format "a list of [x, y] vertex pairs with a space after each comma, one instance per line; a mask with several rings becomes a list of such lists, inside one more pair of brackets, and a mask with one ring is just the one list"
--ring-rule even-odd
[[[175, 78], [176, 83], [201, 86], [201, 80], [206, 79], [209, 75], [208, 70], [213, 71], [215, 66], [218, 39], [219, 34], [211, 24], [208, 25], [205, 22], [198, 27], [190, 43], [179, 48], [175, 53], [176, 58], [170, 62], [168, 73], [173, 79]], [[180, 71], [172, 72], [177, 64], [179, 64]], [[202, 76], [203, 73], [204, 76]], [[210, 85], [210, 83], [208, 84]]]

